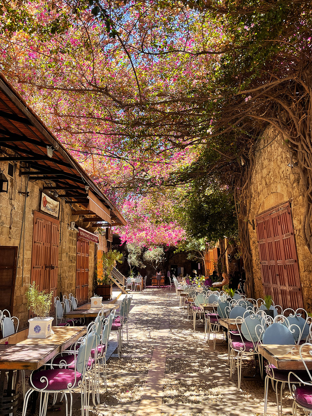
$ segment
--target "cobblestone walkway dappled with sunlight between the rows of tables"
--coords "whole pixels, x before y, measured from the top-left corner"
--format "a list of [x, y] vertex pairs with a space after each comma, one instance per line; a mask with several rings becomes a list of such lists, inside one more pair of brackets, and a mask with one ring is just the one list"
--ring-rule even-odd
[[[207, 344], [199, 327], [202, 322], [196, 323], [193, 332], [173, 289], [148, 288], [134, 293], [129, 343], [124, 344], [120, 359], [117, 354], [109, 358], [108, 392], [102, 389], [102, 404], [90, 407], [89, 416], [263, 415], [264, 382], [260, 376], [242, 377], [238, 392], [236, 374], [229, 380], [222, 335], [218, 335], [220, 344], [213, 351], [212, 342]], [[242, 374], [254, 374], [252, 359], [244, 360]], [[292, 401], [286, 391], [283, 415], [291, 415]], [[268, 416], [277, 415], [275, 400], [270, 385]], [[79, 415], [77, 396], [73, 416]]]

